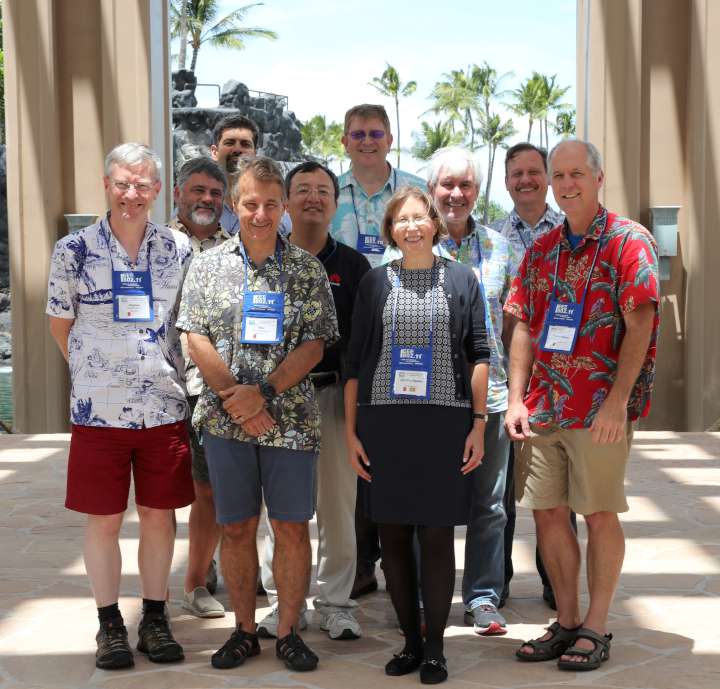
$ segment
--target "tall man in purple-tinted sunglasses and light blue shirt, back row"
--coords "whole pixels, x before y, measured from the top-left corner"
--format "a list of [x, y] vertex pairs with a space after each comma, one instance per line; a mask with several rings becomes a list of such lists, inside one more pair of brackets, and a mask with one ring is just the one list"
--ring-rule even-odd
[[[330, 234], [336, 241], [357, 249], [376, 267], [383, 262], [385, 252], [380, 228], [390, 197], [402, 186], [425, 189], [426, 184], [420, 177], [393, 168], [387, 161], [393, 137], [390, 119], [382, 105], [350, 108], [345, 113], [344, 131], [342, 142], [352, 166], [339, 179], [340, 196]], [[358, 484], [361, 490], [363, 483]], [[380, 558], [377, 527], [365, 516], [361, 495], [357, 505], [358, 562], [352, 598], [377, 590], [375, 563]]]

